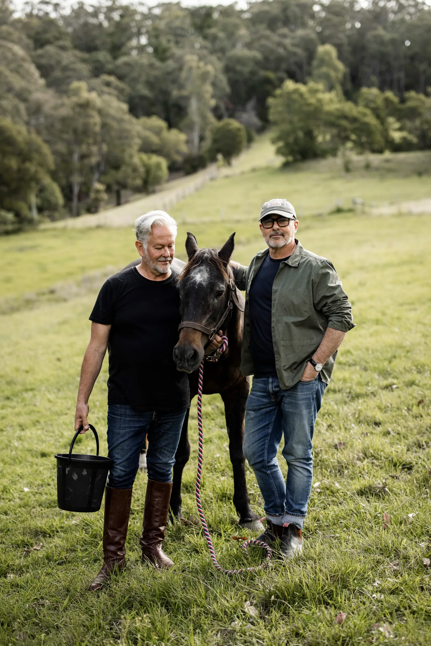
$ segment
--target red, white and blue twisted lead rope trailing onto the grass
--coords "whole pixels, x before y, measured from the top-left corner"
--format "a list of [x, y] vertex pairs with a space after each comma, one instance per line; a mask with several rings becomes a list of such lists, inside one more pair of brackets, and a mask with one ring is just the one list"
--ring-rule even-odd
[[[223, 344], [218, 350], [220, 353], [223, 353], [227, 348], [227, 337], [222, 336], [222, 339], [223, 339]], [[247, 551], [249, 545], [257, 545], [258, 547], [263, 547], [264, 550], [266, 550], [266, 560], [261, 565], [258, 565], [257, 567], [240, 568], [239, 570], [225, 570], [217, 563], [217, 559], [216, 559], [214, 547], [213, 547], [213, 541], [211, 541], [211, 536], [209, 534], [207, 521], [205, 521], [204, 512], [202, 511], [202, 505], [200, 503], [200, 476], [202, 475], [202, 459], [204, 457], [204, 430], [202, 428], [203, 382], [204, 382], [204, 361], [202, 360], [199, 366], [199, 378], [198, 378], [199, 452], [198, 452], [198, 472], [196, 474], [196, 505], [198, 507], [198, 514], [200, 517], [200, 521], [202, 523], [202, 527], [204, 528], [205, 538], [207, 539], [209, 553], [211, 554], [211, 561], [213, 561], [215, 567], [218, 570], [220, 570], [220, 572], [224, 572], [225, 574], [242, 574], [243, 572], [258, 572], [258, 570], [262, 570], [262, 568], [268, 567], [269, 561], [271, 560], [271, 548], [266, 543], [263, 543], [262, 541], [258, 541], [257, 539], [250, 539], [249, 541], [246, 541], [245, 543], [243, 543], [241, 547], [242, 547], [242, 550], [244, 550], [244, 552], [246, 553], [247, 558], [249, 557], [248, 551]]]

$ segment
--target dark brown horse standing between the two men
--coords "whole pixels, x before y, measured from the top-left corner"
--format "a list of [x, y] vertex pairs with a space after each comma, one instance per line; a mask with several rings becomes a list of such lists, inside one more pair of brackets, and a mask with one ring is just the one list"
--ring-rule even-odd
[[[240, 373], [242, 331], [244, 326], [244, 297], [235, 289], [229, 259], [235, 246], [233, 233], [226, 244], [216, 249], [199, 249], [196, 238], [187, 233], [185, 249], [189, 262], [178, 280], [181, 296], [182, 328], [173, 357], [178, 370], [189, 374], [190, 397], [198, 392], [198, 368], [204, 358], [211, 331], [222, 329], [229, 340], [227, 350], [218, 362], [205, 362], [204, 394], [220, 393], [224, 403], [229, 456], [233, 468], [233, 504], [242, 527], [261, 530], [257, 514], [251, 510], [246, 485], [245, 459], [242, 453], [244, 415], [249, 391], [249, 379]], [[140, 261], [131, 263], [139, 264]], [[178, 271], [180, 262], [174, 260]], [[181, 269], [180, 269], [181, 271]], [[224, 318], [224, 315], [226, 317]], [[224, 320], [222, 321], [222, 319]], [[222, 322], [221, 322], [222, 321]], [[190, 325], [189, 325], [190, 324]], [[180, 443], [175, 454], [171, 512], [178, 519], [181, 512], [181, 481], [190, 457], [188, 435], [189, 411], [185, 416]]]

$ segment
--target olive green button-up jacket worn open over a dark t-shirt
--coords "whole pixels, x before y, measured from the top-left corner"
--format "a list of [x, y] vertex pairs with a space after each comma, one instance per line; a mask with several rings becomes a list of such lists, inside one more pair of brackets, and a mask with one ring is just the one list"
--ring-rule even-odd
[[[329, 260], [302, 247], [298, 240], [293, 254], [280, 263], [272, 288], [272, 336], [275, 366], [280, 387], [287, 390], [300, 380], [306, 364], [321, 344], [326, 328], [348, 332], [354, 328], [352, 306], [342, 289], [341, 280]], [[250, 352], [249, 292], [260, 265], [269, 249], [259, 251], [248, 267], [235, 269], [235, 284], [246, 291], [244, 337], [241, 371], [253, 375]], [[337, 351], [321, 371], [328, 384]]]

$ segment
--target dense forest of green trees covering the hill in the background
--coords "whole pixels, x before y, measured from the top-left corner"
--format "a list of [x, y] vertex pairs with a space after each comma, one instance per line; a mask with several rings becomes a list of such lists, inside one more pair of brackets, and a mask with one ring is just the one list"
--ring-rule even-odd
[[229, 161], [269, 122], [286, 161], [431, 147], [417, 0], [28, 6], [0, 0], [4, 233]]

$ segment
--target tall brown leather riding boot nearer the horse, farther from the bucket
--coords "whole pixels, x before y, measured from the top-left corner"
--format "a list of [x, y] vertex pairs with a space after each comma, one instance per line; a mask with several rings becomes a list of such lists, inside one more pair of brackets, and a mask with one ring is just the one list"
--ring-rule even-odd
[[165, 539], [169, 501], [171, 500], [172, 483], [158, 483], [148, 480], [143, 510], [143, 525], [140, 545], [142, 558], [150, 561], [159, 570], [171, 568], [174, 562], [162, 550]]

